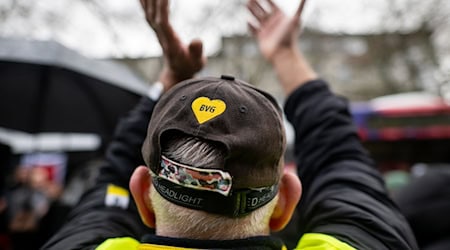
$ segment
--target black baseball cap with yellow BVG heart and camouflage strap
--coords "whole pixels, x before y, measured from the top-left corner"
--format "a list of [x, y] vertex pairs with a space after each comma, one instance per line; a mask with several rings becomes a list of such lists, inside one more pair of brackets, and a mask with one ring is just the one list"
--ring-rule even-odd
[[[162, 156], [164, 138], [179, 133], [223, 145], [224, 162], [203, 168]], [[165, 93], [153, 111], [142, 155], [156, 190], [167, 200], [238, 217], [275, 197], [285, 148], [275, 98], [222, 76], [186, 80]]]

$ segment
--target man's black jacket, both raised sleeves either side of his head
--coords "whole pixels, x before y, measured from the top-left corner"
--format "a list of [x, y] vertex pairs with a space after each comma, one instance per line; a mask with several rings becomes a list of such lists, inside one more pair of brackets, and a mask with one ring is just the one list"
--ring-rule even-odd
[[[149, 232], [131, 200], [126, 209], [106, 206], [105, 190], [109, 183], [128, 189], [132, 171], [142, 164], [140, 147], [154, 104], [144, 97], [120, 122], [96, 187], [43, 249], [92, 249], [107, 238], [139, 239]], [[347, 102], [323, 81], [312, 81], [291, 94], [285, 113], [295, 128], [295, 159], [303, 186], [299, 218], [293, 222], [298, 238], [315, 232], [357, 249], [417, 249], [357, 137]]]

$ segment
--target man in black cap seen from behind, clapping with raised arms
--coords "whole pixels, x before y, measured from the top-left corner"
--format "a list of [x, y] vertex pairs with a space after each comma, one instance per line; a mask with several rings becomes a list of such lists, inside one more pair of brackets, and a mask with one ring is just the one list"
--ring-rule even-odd
[[[278, 75], [295, 129], [303, 186], [296, 248], [417, 249], [358, 139], [347, 102], [318, 79], [298, 48], [302, 5], [287, 17], [264, 2], [248, 2], [255, 17], [249, 27]], [[286, 249], [270, 231], [286, 225], [302, 189], [280, 167], [285, 139], [273, 98], [230, 76], [178, 83], [203, 67], [201, 42], [180, 42], [168, 1], [141, 3], [163, 48], [165, 94], [157, 100], [152, 92], [153, 100], [144, 98], [119, 124], [97, 188], [44, 249]], [[141, 145], [147, 166], [128, 180], [142, 164]], [[135, 214], [128, 181], [148, 228]]]

